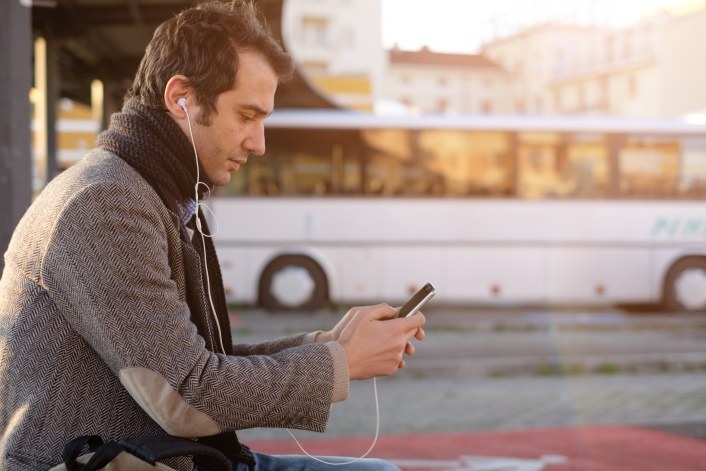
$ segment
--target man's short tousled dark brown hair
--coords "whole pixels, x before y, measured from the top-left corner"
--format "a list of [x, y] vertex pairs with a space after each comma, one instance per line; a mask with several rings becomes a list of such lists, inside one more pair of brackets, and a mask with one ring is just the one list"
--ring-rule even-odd
[[251, 0], [210, 1], [184, 10], [155, 30], [127, 97], [164, 109], [167, 82], [184, 75], [203, 106], [201, 119], [210, 121], [218, 95], [235, 84], [243, 50], [262, 54], [280, 81], [293, 72], [291, 58]]

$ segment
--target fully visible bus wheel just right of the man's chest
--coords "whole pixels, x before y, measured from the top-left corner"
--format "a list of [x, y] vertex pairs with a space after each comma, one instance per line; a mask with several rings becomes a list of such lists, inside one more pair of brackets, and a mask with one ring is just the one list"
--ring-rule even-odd
[[328, 281], [318, 263], [301, 255], [272, 260], [260, 277], [260, 305], [269, 311], [315, 311], [328, 300]]

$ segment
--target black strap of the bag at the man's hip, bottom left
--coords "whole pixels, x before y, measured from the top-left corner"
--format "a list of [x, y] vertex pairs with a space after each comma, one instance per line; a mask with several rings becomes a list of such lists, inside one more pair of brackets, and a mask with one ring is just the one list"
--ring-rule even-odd
[[[88, 445], [93, 456], [86, 464], [76, 462], [81, 451]], [[170, 435], [135, 437], [119, 442], [106, 442], [97, 435], [77, 437], [66, 444], [62, 458], [67, 471], [97, 471], [128, 452], [154, 466], [157, 461], [178, 456], [193, 456], [199, 467], [208, 471], [231, 471], [230, 461], [223, 453], [187, 438]]]

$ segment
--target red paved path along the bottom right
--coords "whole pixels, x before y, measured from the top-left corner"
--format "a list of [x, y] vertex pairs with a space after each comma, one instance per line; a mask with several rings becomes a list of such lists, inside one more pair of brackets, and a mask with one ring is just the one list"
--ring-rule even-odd
[[[360, 456], [370, 443], [369, 437], [302, 442], [309, 453], [339, 456]], [[265, 453], [301, 453], [291, 439], [248, 445]], [[706, 441], [637, 427], [573, 427], [383, 436], [370, 456], [390, 459], [409, 471], [703, 471]], [[486, 458], [492, 459], [483, 462]], [[498, 467], [501, 460], [505, 467]]]

